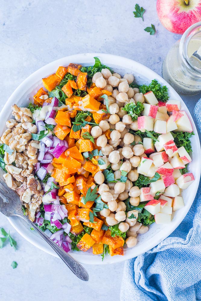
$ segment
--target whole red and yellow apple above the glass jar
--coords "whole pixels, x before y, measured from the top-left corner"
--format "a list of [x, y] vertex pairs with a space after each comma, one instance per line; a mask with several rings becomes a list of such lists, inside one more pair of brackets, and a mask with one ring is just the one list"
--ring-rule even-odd
[[201, 0], [157, 0], [157, 13], [166, 29], [183, 34], [201, 21]]

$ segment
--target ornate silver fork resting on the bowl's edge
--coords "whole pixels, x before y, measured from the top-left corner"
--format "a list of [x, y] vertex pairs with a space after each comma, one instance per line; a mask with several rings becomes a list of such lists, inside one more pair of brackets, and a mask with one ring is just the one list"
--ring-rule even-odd
[[[3, 200], [3, 202], [1, 201]], [[38, 232], [44, 240], [52, 247], [58, 254], [63, 262], [71, 269], [71, 271], [81, 280], [88, 281], [89, 275], [86, 270], [77, 262], [71, 255], [62, 250], [57, 244], [54, 243], [47, 235], [42, 232], [33, 222], [31, 222], [22, 213], [22, 202], [19, 196], [9, 188], [6, 183], [0, 178], [0, 212], [5, 216], [19, 216], [24, 219], [36, 232]]]

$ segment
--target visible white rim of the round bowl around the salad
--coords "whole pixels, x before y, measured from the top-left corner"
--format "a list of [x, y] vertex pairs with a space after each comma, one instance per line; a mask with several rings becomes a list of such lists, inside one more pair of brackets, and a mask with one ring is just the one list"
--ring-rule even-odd
[[[199, 179], [201, 172], [200, 158], [200, 143], [199, 137], [194, 124], [193, 118], [190, 115], [187, 106], [184, 104], [181, 97], [177, 94], [176, 91], [158, 74], [149, 68], [143, 66], [140, 63], [127, 59], [125, 57], [120, 57], [111, 54], [102, 54], [102, 53], [86, 53], [86, 54], [76, 54], [68, 57], [61, 58], [57, 61], [54, 61], [33, 74], [31, 74], [24, 82], [19, 85], [19, 87], [13, 92], [11, 97], [6, 102], [4, 108], [0, 113], [0, 120], [2, 124], [1, 134], [5, 130], [5, 122], [11, 118], [11, 105], [17, 104], [18, 106], [27, 106], [30, 100], [33, 99], [33, 95], [36, 93], [39, 87], [42, 86], [42, 78], [48, 76], [49, 74], [55, 73], [59, 66], [68, 66], [69, 63], [78, 63], [83, 66], [90, 66], [94, 64], [93, 57], [99, 57], [102, 64], [111, 67], [115, 72], [124, 75], [124, 73], [132, 73], [135, 76], [135, 79], [138, 83], [150, 83], [152, 79], [158, 80], [162, 85], [168, 87], [168, 92], [170, 99], [177, 99], [181, 101], [182, 110], [185, 110], [190, 118], [190, 121], [193, 126], [193, 132], [195, 135], [191, 138], [192, 148], [193, 148], [193, 160], [189, 164], [189, 171], [193, 173], [195, 181], [190, 185], [188, 189], [183, 191], [182, 195], [184, 197], [185, 206], [176, 211], [174, 218], [169, 225], [156, 225], [153, 224], [149, 227], [149, 231], [146, 234], [138, 235], [138, 243], [136, 247], [132, 249], [125, 249], [124, 256], [106, 256], [102, 261], [100, 255], [93, 255], [92, 252], [76, 252], [72, 251], [71, 254], [81, 263], [86, 264], [109, 264], [115, 262], [121, 262], [126, 259], [136, 257], [153, 247], [159, 244], [164, 240], [168, 235], [170, 235], [177, 226], [182, 222], [184, 217], [187, 215], [193, 200], [195, 198]], [[56, 253], [49, 247], [49, 245], [35, 232], [31, 231], [29, 225], [24, 222], [22, 219], [14, 216], [8, 218], [9, 222], [21, 234], [26, 240], [31, 244], [38, 247], [39, 249], [53, 255], [57, 256]]]

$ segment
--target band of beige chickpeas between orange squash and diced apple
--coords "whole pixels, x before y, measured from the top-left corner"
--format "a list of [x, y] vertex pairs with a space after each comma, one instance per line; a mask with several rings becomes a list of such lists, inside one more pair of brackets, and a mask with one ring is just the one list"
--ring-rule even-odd
[[[132, 74], [125, 74], [123, 78], [118, 73], [111, 73], [108, 69], [102, 69], [101, 72], [94, 74], [92, 82], [98, 88], [103, 88], [112, 93], [108, 96], [108, 105], [110, 117], [108, 121], [101, 120], [99, 126], [91, 129], [93, 138], [97, 138], [96, 144], [102, 147], [101, 157], [105, 164], [98, 165], [101, 170], [106, 169], [111, 164], [114, 171], [115, 180], [121, 178], [121, 171], [127, 172], [127, 181], [125, 183], [104, 184], [105, 177], [102, 171], [94, 176], [94, 181], [99, 185], [99, 194], [101, 199], [107, 203], [108, 209], [103, 209], [99, 213], [106, 218], [109, 226], [118, 223], [119, 230], [126, 232], [127, 247], [131, 248], [137, 244], [137, 234], [143, 234], [148, 231], [148, 227], [137, 222], [138, 211], [131, 210], [127, 213], [124, 201], [130, 197], [130, 204], [138, 206], [140, 203], [140, 189], [133, 186], [133, 182], [138, 179], [137, 166], [140, 164], [141, 157], [147, 157], [144, 153], [141, 137], [129, 133], [129, 130], [138, 130], [137, 120], [133, 121], [123, 107], [128, 103], [143, 103], [144, 96], [138, 88], [130, 88], [129, 84], [134, 81]], [[104, 103], [105, 104], [105, 103]], [[104, 132], [111, 129], [110, 139], [108, 140]], [[131, 145], [135, 141], [135, 145]], [[122, 162], [123, 159], [123, 162]], [[131, 215], [134, 218], [129, 219]]]

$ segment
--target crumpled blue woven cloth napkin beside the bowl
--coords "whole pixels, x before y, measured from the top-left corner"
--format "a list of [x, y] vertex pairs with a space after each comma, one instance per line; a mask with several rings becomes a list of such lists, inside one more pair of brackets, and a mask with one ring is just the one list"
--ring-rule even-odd
[[[194, 114], [201, 131], [201, 99]], [[121, 301], [201, 300], [201, 183], [177, 229], [152, 250], [125, 263]]]

